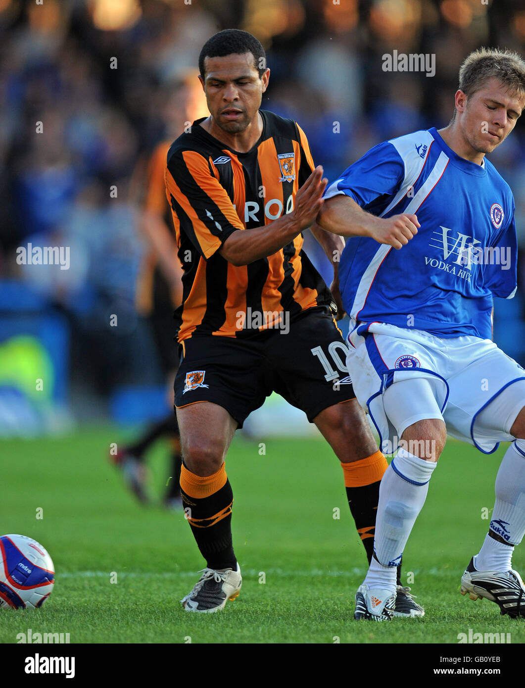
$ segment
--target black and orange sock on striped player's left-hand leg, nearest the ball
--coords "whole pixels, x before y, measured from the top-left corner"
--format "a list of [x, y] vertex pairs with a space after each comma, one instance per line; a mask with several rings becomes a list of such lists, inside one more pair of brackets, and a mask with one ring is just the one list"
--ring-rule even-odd
[[180, 494], [186, 518], [208, 568], [237, 569], [231, 536], [233, 491], [224, 464], [201, 477], [182, 464]]

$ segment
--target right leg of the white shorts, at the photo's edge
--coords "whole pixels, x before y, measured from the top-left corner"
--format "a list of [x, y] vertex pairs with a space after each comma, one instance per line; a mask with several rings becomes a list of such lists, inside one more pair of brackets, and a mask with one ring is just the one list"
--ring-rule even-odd
[[451, 436], [489, 453], [513, 440], [511, 428], [525, 405], [525, 370], [491, 341], [473, 343], [474, 355], [449, 378], [444, 413]]

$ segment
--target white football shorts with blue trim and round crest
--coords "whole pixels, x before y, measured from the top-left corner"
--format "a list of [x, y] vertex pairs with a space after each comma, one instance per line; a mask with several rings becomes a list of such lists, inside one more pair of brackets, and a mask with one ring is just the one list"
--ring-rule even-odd
[[427, 418], [444, 420], [449, 435], [483, 453], [515, 439], [510, 429], [525, 406], [525, 370], [491, 340], [370, 323], [351, 328], [348, 341], [352, 385], [384, 453], [394, 453], [403, 431]]

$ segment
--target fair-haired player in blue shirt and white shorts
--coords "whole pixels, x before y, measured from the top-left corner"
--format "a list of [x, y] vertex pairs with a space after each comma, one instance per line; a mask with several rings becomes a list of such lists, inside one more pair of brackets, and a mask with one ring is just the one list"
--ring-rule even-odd
[[[394, 453], [356, 619], [392, 619], [396, 565], [447, 432], [508, 447], [484, 543], [463, 594], [525, 616], [513, 548], [525, 534], [525, 370], [491, 341], [493, 297], [516, 289], [514, 200], [486, 160], [525, 107], [525, 62], [482, 49], [460, 69], [450, 124], [383, 142], [325, 191], [317, 222], [347, 240], [339, 284], [356, 396]], [[379, 245], [378, 245], [379, 244]], [[397, 249], [397, 250], [396, 250]]]

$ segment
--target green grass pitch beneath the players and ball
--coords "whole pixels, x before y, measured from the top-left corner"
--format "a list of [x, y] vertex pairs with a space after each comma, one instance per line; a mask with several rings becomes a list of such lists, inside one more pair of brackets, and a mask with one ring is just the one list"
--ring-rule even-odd
[[[179, 601], [204, 561], [182, 513], [142, 508], [125, 491], [106, 457], [126, 436], [105, 427], [2, 442], [0, 531], [40, 541], [56, 583], [40, 610], [0, 611], [1, 643], [17, 643], [29, 628], [69, 633], [71, 643], [457, 644], [469, 629], [525, 642], [522, 620], [460, 595], [461, 574], [489, 525], [482, 516], [493, 507], [505, 447], [482, 455], [449, 440], [403, 562], [426, 615], [365, 623], [353, 619], [365, 552], [341, 467], [323, 440], [270, 440], [261, 454], [260, 440], [235, 438], [226, 468], [242, 591], [218, 614], [188, 614]], [[166, 447], [149, 455], [157, 495], [166, 462]], [[517, 548], [513, 561], [522, 572], [524, 552]]]

